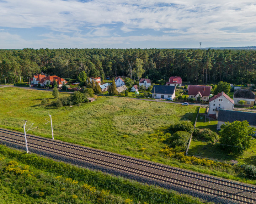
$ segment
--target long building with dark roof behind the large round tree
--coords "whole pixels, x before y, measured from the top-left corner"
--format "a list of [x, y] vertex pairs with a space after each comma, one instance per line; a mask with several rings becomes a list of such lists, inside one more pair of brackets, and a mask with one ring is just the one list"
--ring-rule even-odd
[[219, 109], [217, 130], [220, 130], [220, 126], [225, 122], [233, 123], [236, 120], [247, 120], [251, 127], [256, 128], [256, 113]]

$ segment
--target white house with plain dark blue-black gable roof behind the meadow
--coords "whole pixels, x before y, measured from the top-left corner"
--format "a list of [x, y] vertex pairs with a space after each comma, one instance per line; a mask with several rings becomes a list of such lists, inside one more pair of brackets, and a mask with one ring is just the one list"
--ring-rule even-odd
[[152, 98], [173, 100], [175, 98], [175, 86], [154, 85], [151, 90]]

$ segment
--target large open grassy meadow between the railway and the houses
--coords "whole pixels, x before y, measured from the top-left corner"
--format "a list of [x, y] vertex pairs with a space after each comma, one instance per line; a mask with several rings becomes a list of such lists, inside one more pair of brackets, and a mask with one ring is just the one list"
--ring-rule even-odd
[[[68, 94], [60, 93], [63, 95]], [[149, 134], [178, 120], [191, 120], [196, 109], [196, 106], [105, 96], [93, 103], [55, 108], [41, 106], [42, 98], [54, 100], [48, 91], [0, 89], [0, 126], [23, 131], [23, 120], [27, 119], [27, 128], [33, 122], [34, 126], [39, 125], [28, 133], [51, 138], [50, 125], [44, 120], [49, 119], [50, 113], [57, 140], [155, 161], [163, 159], [159, 150], [164, 144]], [[146, 149], [140, 151], [142, 147]]]

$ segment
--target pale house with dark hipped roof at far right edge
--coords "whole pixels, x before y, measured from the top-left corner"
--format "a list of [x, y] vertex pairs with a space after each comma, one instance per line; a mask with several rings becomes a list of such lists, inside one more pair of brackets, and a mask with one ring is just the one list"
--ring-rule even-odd
[[239, 89], [234, 92], [233, 100], [235, 105], [239, 105], [239, 101], [245, 101], [244, 106], [252, 107], [255, 103], [255, 94], [249, 89]]

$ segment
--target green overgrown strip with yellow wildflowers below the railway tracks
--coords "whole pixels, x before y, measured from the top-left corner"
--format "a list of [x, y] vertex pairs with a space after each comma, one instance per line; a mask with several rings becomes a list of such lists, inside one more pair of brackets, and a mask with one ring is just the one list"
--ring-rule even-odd
[[0, 172], [2, 204], [202, 204], [191, 196], [3, 145], [0, 145]]

